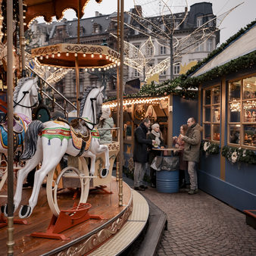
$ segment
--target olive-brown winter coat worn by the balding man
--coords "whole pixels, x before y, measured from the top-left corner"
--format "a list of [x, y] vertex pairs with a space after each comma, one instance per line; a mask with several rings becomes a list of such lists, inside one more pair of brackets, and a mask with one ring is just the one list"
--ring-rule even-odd
[[201, 126], [198, 123], [190, 126], [186, 131], [186, 136], [183, 137], [183, 141], [185, 142], [183, 160], [199, 162]]

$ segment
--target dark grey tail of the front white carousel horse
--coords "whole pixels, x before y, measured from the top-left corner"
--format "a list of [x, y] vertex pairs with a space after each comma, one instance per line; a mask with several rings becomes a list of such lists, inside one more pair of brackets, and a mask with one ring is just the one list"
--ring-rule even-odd
[[40, 120], [34, 120], [27, 127], [24, 139], [24, 151], [20, 156], [20, 160], [26, 161], [33, 157], [36, 154], [36, 146], [38, 134], [44, 129], [44, 125]]

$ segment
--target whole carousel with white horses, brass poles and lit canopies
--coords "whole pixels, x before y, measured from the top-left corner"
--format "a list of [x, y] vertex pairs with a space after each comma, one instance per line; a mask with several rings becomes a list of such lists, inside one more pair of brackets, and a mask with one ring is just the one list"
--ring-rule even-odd
[[[120, 254], [142, 232], [149, 213], [145, 198], [123, 182], [123, 158], [118, 157], [123, 155], [123, 125], [119, 125], [123, 123], [123, 1], [117, 1], [118, 52], [108, 46], [80, 44], [79, 20], [89, 0], [1, 2], [6, 8], [2, 41], [7, 48], [7, 105], [2, 107], [7, 116], [0, 123], [1, 251], [8, 255]], [[13, 17], [14, 8], [17, 17]], [[78, 17], [77, 44], [35, 48], [31, 55], [40, 65], [76, 69], [77, 117], [70, 123], [61, 118], [32, 121], [39, 86], [37, 77], [26, 76], [24, 29], [39, 16], [46, 21], [53, 16], [60, 19], [67, 8], [73, 8]], [[15, 19], [20, 25], [21, 61], [14, 64]], [[19, 79], [14, 67], [20, 70]], [[79, 69], [113, 67], [119, 77], [117, 136], [101, 145], [97, 123], [104, 87], [89, 86], [79, 102]], [[68, 161], [62, 167], [64, 155]], [[116, 176], [112, 176], [114, 166]], [[33, 188], [23, 189], [35, 168]]]

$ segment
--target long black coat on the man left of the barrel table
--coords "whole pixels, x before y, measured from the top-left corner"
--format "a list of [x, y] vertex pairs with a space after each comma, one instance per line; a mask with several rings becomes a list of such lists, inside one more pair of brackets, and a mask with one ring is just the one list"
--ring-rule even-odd
[[134, 151], [133, 161], [138, 163], [146, 163], [148, 161], [148, 145], [152, 144], [151, 139], [146, 139], [148, 128], [144, 123], [140, 123], [134, 133]]

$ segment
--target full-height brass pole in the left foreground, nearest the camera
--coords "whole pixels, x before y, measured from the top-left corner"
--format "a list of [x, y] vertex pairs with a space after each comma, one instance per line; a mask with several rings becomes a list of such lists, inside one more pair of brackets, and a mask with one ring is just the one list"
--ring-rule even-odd
[[8, 104], [8, 255], [14, 254], [14, 135], [13, 135], [13, 0], [7, 1], [7, 104]]

